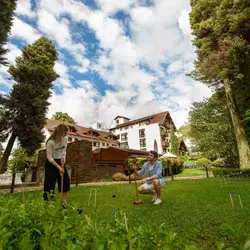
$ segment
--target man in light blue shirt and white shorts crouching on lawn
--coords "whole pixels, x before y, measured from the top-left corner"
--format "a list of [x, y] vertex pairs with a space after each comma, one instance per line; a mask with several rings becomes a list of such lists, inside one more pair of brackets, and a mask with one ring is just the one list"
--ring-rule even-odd
[[161, 187], [165, 184], [162, 176], [162, 164], [157, 158], [157, 152], [149, 151], [148, 161], [143, 164], [140, 171], [137, 171], [135, 164], [133, 165], [135, 175], [140, 177], [145, 174], [147, 177], [141, 180], [142, 185], [138, 188], [138, 192], [153, 195], [152, 201], [154, 201], [155, 205], [162, 202]]

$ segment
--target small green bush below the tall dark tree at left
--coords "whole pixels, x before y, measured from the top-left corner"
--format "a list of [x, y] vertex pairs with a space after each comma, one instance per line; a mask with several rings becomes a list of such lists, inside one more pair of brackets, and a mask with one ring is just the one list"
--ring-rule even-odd
[[27, 167], [28, 156], [23, 148], [18, 148], [13, 153], [13, 158], [9, 161], [9, 168], [12, 172], [23, 172]]

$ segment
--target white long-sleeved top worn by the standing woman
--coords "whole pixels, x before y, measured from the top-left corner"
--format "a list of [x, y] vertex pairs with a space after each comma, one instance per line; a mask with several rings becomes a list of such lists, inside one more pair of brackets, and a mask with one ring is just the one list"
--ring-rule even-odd
[[49, 140], [46, 144], [46, 155], [49, 162], [54, 159], [62, 159], [66, 154], [68, 137], [65, 136], [61, 142], [55, 143], [53, 140]]

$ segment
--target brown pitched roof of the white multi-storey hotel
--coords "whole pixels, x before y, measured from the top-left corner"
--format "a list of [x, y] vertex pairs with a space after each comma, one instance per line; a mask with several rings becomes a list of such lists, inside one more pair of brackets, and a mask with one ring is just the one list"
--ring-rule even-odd
[[169, 118], [172, 120], [172, 118], [170, 117], [169, 112], [165, 111], [165, 112], [161, 112], [161, 113], [158, 113], [158, 114], [154, 114], [154, 115], [146, 116], [146, 117], [139, 118], [139, 119], [136, 119], [136, 120], [132, 120], [132, 121], [129, 121], [129, 122], [124, 122], [122, 124], [118, 124], [114, 128], [111, 128], [111, 130], [117, 129], [117, 128], [122, 128], [122, 127], [127, 127], [129, 125], [134, 125], [136, 123], [147, 121], [147, 120], [149, 120], [148, 125], [153, 124], [153, 123], [162, 124], [167, 116], [169, 116]]

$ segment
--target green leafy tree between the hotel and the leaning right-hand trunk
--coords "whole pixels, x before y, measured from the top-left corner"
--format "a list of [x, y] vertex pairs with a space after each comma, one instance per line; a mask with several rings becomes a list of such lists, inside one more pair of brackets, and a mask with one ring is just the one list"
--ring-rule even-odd
[[238, 165], [236, 139], [221, 92], [193, 103], [186, 126], [189, 129], [185, 136], [189, 137], [193, 151], [212, 160], [224, 158], [228, 166]]

